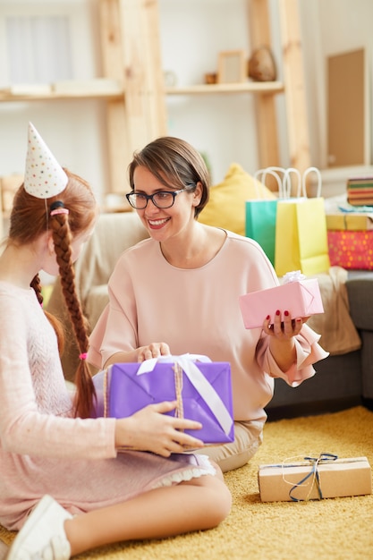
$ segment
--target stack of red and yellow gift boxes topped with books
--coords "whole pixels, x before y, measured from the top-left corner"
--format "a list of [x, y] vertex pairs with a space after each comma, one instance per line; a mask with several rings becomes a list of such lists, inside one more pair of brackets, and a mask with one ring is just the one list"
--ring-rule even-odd
[[373, 177], [347, 181], [345, 208], [326, 213], [331, 266], [373, 270]]

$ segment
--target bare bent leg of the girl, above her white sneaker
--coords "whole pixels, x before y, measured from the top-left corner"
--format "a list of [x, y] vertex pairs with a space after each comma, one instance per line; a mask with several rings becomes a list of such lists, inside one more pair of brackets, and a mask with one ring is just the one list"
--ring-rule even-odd
[[64, 528], [74, 556], [121, 540], [160, 539], [211, 529], [225, 519], [231, 505], [222, 478], [205, 475], [78, 515], [66, 521]]

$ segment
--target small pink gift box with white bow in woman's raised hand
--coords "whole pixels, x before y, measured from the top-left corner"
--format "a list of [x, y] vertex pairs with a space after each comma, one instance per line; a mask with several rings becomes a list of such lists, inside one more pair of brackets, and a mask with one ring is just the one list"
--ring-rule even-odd
[[274, 318], [276, 310], [287, 310], [292, 318], [324, 313], [317, 278], [246, 293], [240, 296], [240, 307], [245, 328], [262, 327], [267, 315]]

